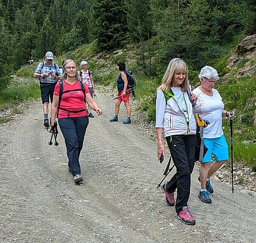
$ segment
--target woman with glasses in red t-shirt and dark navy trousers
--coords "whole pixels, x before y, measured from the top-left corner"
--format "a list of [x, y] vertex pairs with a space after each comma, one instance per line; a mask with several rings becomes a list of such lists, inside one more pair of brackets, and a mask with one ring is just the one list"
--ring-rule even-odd
[[66, 60], [63, 63], [63, 71], [63, 80], [60, 80], [54, 89], [51, 126], [54, 128], [58, 114], [58, 123], [67, 148], [68, 171], [74, 176], [74, 182], [80, 182], [83, 178], [81, 177], [79, 155], [89, 123], [85, 101], [98, 115], [102, 114], [102, 110], [93, 101], [88, 87], [79, 82], [74, 61]]

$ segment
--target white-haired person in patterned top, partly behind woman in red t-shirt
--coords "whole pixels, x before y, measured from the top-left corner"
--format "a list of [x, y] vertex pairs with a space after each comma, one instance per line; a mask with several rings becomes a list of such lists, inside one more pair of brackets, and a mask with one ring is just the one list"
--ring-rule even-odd
[[[92, 71], [88, 70], [88, 63], [86, 61], [81, 61], [80, 66], [82, 67], [82, 70], [79, 71], [79, 80], [87, 85], [90, 91], [90, 94], [93, 98], [95, 86], [92, 78]], [[92, 108], [88, 107], [88, 111], [89, 111], [88, 117], [93, 118], [94, 115], [92, 114]]]

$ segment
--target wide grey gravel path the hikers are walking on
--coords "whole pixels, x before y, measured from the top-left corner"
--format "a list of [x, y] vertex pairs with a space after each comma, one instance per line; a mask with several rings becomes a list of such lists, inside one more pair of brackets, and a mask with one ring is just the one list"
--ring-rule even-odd
[[[182, 224], [157, 183], [167, 161], [140, 122], [111, 123], [114, 101], [98, 94], [101, 117], [90, 119], [81, 153], [83, 186], [67, 170], [63, 137], [49, 146], [40, 101], [0, 126], [0, 242], [255, 242], [255, 195], [213, 180], [213, 203], [189, 205], [195, 226]], [[167, 160], [167, 159], [166, 159]], [[174, 172], [173, 172], [174, 173]], [[170, 177], [169, 177], [170, 178]]]

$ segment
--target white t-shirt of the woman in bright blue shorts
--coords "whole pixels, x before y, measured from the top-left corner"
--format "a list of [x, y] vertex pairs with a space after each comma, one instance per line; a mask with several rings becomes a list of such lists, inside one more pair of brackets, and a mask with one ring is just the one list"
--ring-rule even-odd
[[200, 91], [199, 87], [193, 90], [193, 94], [198, 96], [196, 101], [196, 113], [200, 114], [205, 121], [210, 124], [204, 128], [204, 138], [219, 138], [223, 135], [222, 112], [224, 104], [216, 89], [212, 89], [212, 96], [208, 96]]

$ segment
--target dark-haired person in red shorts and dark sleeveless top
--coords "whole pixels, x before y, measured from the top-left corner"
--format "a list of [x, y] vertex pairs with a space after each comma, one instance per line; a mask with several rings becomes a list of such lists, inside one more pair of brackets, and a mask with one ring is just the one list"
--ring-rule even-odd
[[131, 123], [131, 106], [129, 104], [129, 89], [128, 89], [128, 80], [126, 76], [126, 71], [125, 71], [125, 63], [123, 61], [118, 61], [116, 63], [116, 68], [120, 71], [120, 74], [118, 75], [117, 79], [117, 90], [118, 90], [118, 98], [116, 98], [116, 103], [115, 103], [115, 115], [114, 117], [110, 120], [111, 122], [118, 121], [118, 113], [120, 110], [120, 105], [122, 101], [124, 101], [125, 108], [127, 110], [127, 118], [123, 122], [123, 124], [129, 124]]

